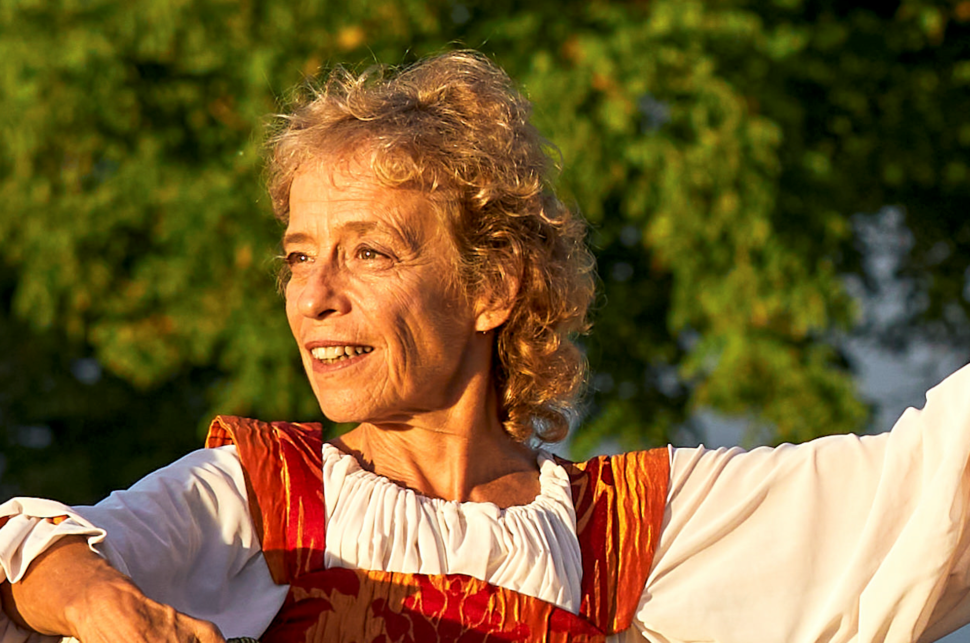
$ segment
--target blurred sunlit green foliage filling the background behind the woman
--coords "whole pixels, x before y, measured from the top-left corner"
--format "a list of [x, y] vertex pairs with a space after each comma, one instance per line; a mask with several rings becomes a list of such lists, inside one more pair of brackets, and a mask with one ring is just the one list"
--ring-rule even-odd
[[4, 479], [93, 499], [213, 412], [317, 418], [274, 288], [267, 114], [321, 65], [456, 46], [521, 83], [592, 224], [577, 455], [661, 444], [702, 407], [771, 440], [861, 429], [836, 341], [851, 214], [905, 206], [924, 321], [966, 327], [967, 20], [943, 0], [4, 2]]

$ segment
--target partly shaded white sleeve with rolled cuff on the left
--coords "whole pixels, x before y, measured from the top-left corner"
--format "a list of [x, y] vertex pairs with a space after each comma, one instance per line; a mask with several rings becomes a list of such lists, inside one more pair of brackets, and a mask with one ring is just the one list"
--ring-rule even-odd
[[[0, 566], [11, 582], [57, 538], [82, 534], [147, 596], [227, 637], [258, 637], [286, 595], [263, 559], [234, 446], [190, 453], [93, 506], [14, 498], [0, 505], [4, 519]], [[0, 613], [0, 643], [56, 640], [28, 637]]]

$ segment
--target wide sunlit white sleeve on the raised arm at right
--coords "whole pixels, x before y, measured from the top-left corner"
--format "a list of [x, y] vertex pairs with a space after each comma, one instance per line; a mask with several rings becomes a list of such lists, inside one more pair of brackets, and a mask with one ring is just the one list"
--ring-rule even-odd
[[674, 449], [649, 641], [931, 641], [970, 621], [970, 367], [888, 434]]

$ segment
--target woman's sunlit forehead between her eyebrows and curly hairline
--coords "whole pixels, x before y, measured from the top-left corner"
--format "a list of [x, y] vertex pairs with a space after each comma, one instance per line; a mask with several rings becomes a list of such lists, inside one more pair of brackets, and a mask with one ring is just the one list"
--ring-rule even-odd
[[440, 221], [417, 190], [389, 187], [359, 162], [313, 163], [293, 177], [288, 231], [390, 229], [405, 239], [434, 236]]

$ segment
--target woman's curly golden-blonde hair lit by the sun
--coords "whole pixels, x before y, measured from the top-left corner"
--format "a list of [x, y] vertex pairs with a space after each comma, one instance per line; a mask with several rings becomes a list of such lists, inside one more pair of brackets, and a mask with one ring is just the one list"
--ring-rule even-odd
[[594, 260], [586, 224], [556, 197], [548, 144], [508, 76], [475, 51], [395, 69], [333, 70], [279, 119], [269, 190], [284, 223], [302, 164], [367, 152], [378, 180], [418, 189], [444, 216], [469, 295], [508, 293], [494, 379], [505, 431], [566, 436], [585, 374], [572, 340], [588, 329]]

